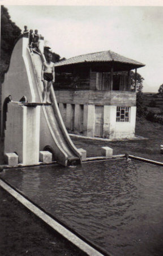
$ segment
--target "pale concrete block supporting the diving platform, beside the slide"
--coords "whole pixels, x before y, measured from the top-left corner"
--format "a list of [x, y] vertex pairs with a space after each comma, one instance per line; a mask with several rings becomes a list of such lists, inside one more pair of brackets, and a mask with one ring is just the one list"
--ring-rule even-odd
[[5, 131], [5, 154], [16, 152], [19, 162], [32, 165], [39, 162], [40, 106], [27, 107], [8, 103]]

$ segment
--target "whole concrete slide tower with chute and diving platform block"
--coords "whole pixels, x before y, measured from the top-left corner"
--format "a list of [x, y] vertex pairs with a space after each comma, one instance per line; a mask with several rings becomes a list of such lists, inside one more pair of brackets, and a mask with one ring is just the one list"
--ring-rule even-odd
[[[40, 39], [44, 57], [44, 39]], [[28, 37], [22, 35], [12, 51], [10, 67], [2, 84], [2, 134], [5, 136], [5, 154], [15, 152], [19, 163], [37, 164], [39, 151], [50, 151], [53, 159], [63, 166], [81, 163], [81, 153], [72, 143], [50, 89], [52, 105], [41, 105], [42, 56], [32, 54]], [[22, 100], [24, 98], [25, 100]], [[28, 104], [21, 103], [28, 101]], [[33, 105], [32, 105], [33, 103]], [[29, 105], [35, 106], [29, 108]], [[28, 106], [27, 106], [28, 105]], [[37, 106], [38, 105], [38, 106]], [[35, 158], [33, 162], [31, 159]]]

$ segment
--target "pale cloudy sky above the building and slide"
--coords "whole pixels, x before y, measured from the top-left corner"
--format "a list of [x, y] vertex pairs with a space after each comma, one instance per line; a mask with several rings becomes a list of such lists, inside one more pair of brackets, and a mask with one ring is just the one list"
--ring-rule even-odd
[[145, 64], [138, 69], [144, 92], [163, 84], [163, 6], [5, 7], [20, 29], [37, 28], [61, 57], [111, 50]]

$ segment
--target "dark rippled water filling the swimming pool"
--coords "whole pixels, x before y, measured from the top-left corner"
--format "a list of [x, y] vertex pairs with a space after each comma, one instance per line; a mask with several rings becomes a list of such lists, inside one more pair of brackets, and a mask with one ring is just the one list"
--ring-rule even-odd
[[117, 159], [1, 176], [113, 255], [163, 255], [163, 167]]

